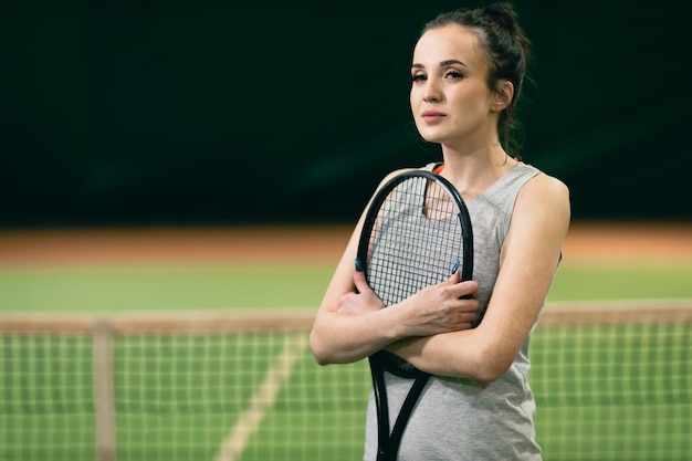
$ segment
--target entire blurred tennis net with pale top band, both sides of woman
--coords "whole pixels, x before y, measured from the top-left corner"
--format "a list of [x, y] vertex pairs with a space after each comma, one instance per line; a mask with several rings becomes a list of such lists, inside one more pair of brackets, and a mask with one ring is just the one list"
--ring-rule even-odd
[[[664, 318], [608, 312], [556, 319], [548, 308], [533, 336], [544, 458], [689, 459], [692, 306]], [[250, 331], [226, 331], [234, 317], [105, 322], [105, 410], [95, 397], [104, 386], [95, 376], [104, 368], [95, 347], [102, 333], [92, 323], [0, 322], [0, 459], [361, 458], [367, 363], [315, 365], [310, 315], [262, 318]], [[95, 423], [108, 418], [111, 428]]]

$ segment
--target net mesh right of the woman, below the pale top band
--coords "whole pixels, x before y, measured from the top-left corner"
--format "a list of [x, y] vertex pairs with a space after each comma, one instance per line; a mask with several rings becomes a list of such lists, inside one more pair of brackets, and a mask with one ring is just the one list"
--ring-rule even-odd
[[530, 379], [545, 459], [689, 459], [691, 333], [690, 323], [539, 328]]

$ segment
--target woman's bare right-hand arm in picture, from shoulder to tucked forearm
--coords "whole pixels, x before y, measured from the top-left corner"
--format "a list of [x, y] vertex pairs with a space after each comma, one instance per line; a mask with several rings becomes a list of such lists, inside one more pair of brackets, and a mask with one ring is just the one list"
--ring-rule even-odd
[[545, 175], [522, 188], [500, 273], [475, 329], [407, 338], [388, 350], [431, 374], [492, 381], [512, 365], [547, 295], [569, 226], [567, 188]]

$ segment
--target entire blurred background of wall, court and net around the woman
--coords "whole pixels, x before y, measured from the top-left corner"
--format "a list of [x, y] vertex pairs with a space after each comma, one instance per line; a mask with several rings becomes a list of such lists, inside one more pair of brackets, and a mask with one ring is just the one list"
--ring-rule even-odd
[[[692, 8], [515, 3], [524, 159], [573, 205], [539, 442], [689, 459]], [[441, 158], [421, 28], [479, 4], [0, 0], [0, 459], [361, 457], [369, 369], [306, 333], [380, 178]]]

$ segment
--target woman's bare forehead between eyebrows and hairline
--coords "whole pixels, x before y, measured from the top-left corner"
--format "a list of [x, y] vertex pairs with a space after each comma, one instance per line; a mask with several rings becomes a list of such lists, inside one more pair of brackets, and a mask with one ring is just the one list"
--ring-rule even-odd
[[459, 60], [469, 66], [484, 66], [478, 35], [458, 24], [443, 25], [426, 31], [413, 49], [413, 63], [424, 66], [443, 61]]

